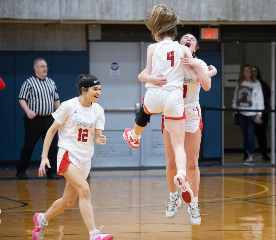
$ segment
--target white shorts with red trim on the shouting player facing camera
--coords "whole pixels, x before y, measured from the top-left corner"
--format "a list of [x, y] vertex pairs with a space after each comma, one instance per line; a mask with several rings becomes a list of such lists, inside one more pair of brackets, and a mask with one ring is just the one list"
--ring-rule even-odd
[[[203, 122], [202, 122], [202, 118], [201, 118], [200, 105], [198, 104], [196, 106], [191, 106], [191, 107], [185, 108], [185, 115], [186, 115], [185, 132], [195, 133], [200, 128], [200, 131], [202, 134]], [[167, 123], [166, 123], [166, 119], [162, 115], [162, 124], [161, 124], [162, 133], [163, 133], [164, 127], [167, 131], [169, 131]]]

